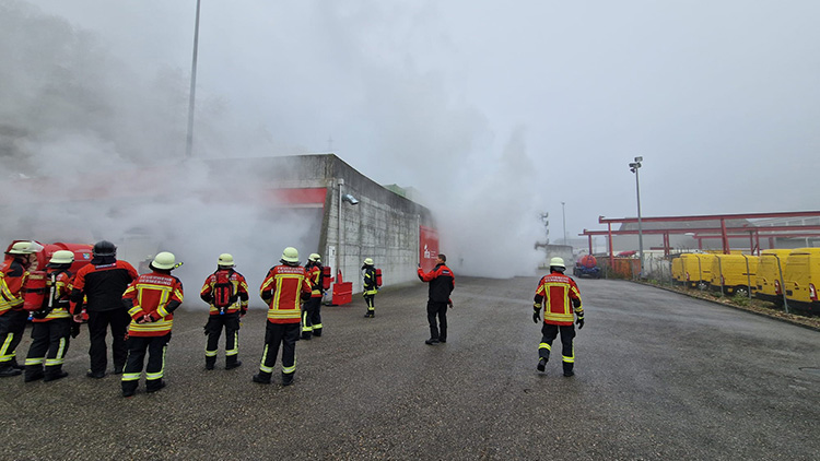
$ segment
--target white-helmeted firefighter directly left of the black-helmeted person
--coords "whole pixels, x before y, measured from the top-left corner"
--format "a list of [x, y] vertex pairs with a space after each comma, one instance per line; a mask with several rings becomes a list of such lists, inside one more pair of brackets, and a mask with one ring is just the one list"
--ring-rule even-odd
[[[69, 347], [73, 319], [69, 312], [69, 295], [73, 275], [69, 272], [74, 253], [58, 250], [46, 268], [46, 296], [43, 306], [32, 312], [32, 345], [25, 358], [25, 382], [43, 379], [54, 381], [68, 376], [62, 363]], [[45, 371], [43, 365], [45, 364]]]

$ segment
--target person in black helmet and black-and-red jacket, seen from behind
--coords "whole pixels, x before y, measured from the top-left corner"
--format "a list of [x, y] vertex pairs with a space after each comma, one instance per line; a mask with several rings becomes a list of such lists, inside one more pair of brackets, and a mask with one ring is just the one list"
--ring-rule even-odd
[[139, 274], [128, 262], [117, 260], [117, 247], [110, 241], [97, 241], [92, 252], [91, 264], [84, 265], [74, 276], [71, 312], [75, 322], [82, 322], [81, 311], [83, 303], [86, 303], [91, 367], [85, 376], [98, 379], [105, 377], [108, 365], [105, 335], [109, 327], [114, 374], [121, 374], [126, 365], [128, 350], [125, 336], [130, 318], [128, 311], [122, 308], [121, 298], [128, 285], [137, 280]]

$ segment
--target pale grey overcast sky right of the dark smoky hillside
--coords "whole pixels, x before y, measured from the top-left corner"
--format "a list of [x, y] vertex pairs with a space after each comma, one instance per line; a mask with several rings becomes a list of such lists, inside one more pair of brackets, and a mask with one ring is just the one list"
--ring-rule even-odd
[[[30, 3], [134, 78], [188, 75], [195, 0]], [[635, 214], [636, 155], [647, 216], [817, 210], [818, 17], [813, 0], [203, 0], [200, 107], [244, 144], [197, 125], [195, 155], [332, 137], [375, 180], [446, 194], [454, 232], [542, 210], [553, 240], [562, 201], [571, 236]]]

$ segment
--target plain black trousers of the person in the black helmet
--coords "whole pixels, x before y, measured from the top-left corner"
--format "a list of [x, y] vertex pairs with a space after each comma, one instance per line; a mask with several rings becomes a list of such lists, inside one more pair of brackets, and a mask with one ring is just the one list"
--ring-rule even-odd
[[91, 346], [89, 356], [91, 358], [92, 373], [105, 373], [108, 366], [108, 350], [105, 344], [105, 335], [108, 327], [112, 329], [112, 351], [114, 355], [114, 368], [121, 368], [126, 364], [128, 348], [126, 347], [126, 332], [131, 317], [126, 309], [113, 309], [103, 311], [89, 311], [89, 335]]

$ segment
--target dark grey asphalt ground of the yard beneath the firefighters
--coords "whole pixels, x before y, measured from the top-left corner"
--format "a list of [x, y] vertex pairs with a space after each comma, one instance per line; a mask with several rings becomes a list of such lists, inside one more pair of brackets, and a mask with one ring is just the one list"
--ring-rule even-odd
[[[578, 281], [576, 375], [560, 342], [536, 370], [537, 277], [458, 277], [448, 342], [429, 335], [426, 286], [388, 287], [376, 317], [323, 307], [296, 344], [293, 386], [257, 385], [265, 311], [243, 321], [244, 365], [204, 370], [207, 314], [175, 319], [160, 392], [86, 378], [87, 331], [68, 378], [0, 380], [0, 459], [817, 460], [820, 332], [621, 281]], [[188, 299], [197, 299], [188, 293]], [[24, 357], [26, 336], [19, 354]], [[224, 343], [223, 343], [224, 345]], [[110, 366], [110, 365], [109, 365]], [[801, 369], [805, 368], [805, 369]]]

